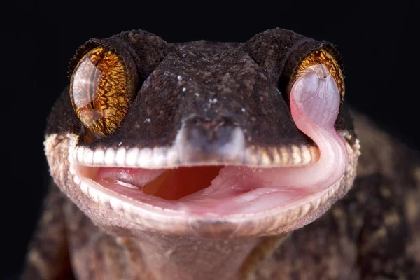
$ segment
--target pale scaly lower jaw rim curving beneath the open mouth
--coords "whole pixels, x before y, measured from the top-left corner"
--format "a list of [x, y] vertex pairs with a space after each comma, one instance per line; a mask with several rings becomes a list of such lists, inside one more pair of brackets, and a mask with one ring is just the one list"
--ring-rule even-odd
[[[310, 202], [297, 203], [289, 209], [277, 208], [253, 214], [213, 217], [187, 216], [179, 211], [170, 211], [130, 200], [111, 190], [104, 189], [102, 186], [80, 179], [74, 169], [80, 154], [78, 152], [80, 148], [76, 148], [77, 142], [78, 136], [75, 134], [67, 134], [65, 137], [59, 134], [50, 134], [44, 142], [45, 153], [57, 185], [93, 221], [108, 229], [129, 228], [190, 237], [255, 237], [274, 235], [300, 228], [321, 216], [328, 209], [328, 205], [338, 200], [349, 190], [356, 176], [356, 162], [359, 155], [358, 141], [353, 146], [346, 143], [350, 155], [346, 173], [334, 186], [319, 193]], [[127, 156], [123, 157], [121, 151], [110, 153], [114, 155], [113, 162], [128, 166], [130, 160], [127, 159], [130, 157], [130, 153], [125, 151]], [[104, 151], [104, 154], [106, 152]], [[137, 155], [140, 154], [143, 153]], [[153, 155], [152, 149], [148, 156], [150, 160], [145, 161], [150, 165], [153, 162], [151, 155]], [[126, 160], [124, 163], [122, 163], [122, 158]], [[259, 162], [263, 164], [265, 161], [259, 160]], [[156, 167], [156, 165], [153, 166]], [[63, 173], [62, 169], [67, 169], [68, 172]]]

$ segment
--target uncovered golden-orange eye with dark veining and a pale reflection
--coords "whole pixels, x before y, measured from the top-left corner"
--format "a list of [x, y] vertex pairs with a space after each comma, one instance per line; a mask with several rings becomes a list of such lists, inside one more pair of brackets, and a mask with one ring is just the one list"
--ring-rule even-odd
[[127, 63], [102, 47], [87, 52], [73, 71], [70, 97], [80, 121], [104, 137], [115, 132], [127, 115], [135, 78]]

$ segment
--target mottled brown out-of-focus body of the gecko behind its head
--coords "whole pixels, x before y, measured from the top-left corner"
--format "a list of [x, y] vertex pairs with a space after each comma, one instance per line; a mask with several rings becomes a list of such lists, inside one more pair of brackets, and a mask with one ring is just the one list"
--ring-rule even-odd
[[[277, 246], [280, 243], [279, 247], [267, 257], [265, 255], [274, 248], [259, 250], [251, 262], [252, 268], [242, 268], [249, 279], [419, 279], [420, 160], [413, 151], [378, 130], [364, 117], [356, 115], [355, 120], [362, 155], [353, 188], [314, 223], [291, 232], [283, 242], [269, 240], [268, 244]], [[50, 197], [57, 195], [52, 191]], [[160, 243], [162, 240], [169, 244], [179, 242], [176, 237], [158, 237], [160, 242], [154, 243], [157, 248], [147, 248], [141, 245], [142, 242], [150, 244], [153, 237], [137, 240], [108, 235], [93, 225], [70, 200], [61, 198], [59, 205], [51, 204], [51, 200], [48, 198], [43, 216], [64, 211], [65, 219], [49, 220], [48, 225], [45, 218], [42, 219], [29, 253], [26, 272], [30, 276], [26, 279], [57, 279], [54, 276], [57, 265], [65, 260], [57, 255], [65, 252], [62, 249], [65, 246], [72, 254], [74, 273], [79, 279], [160, 279], [159, 272], [165, 272], [165, 266], [157, 267], [161, 271], [150, 271], [148, 267], [153, 266], [146, 261], [156, 260], [156, 255], [150, 254], [165, 247]], [[55, 229], [64, 223], [67, 234], [57, 235]], [[55, 244], [51, 247], [55, 251], [45, 250], [45, 245], [41, 245], [45, 244], [45, 239]], [[263, 240], [258, 240], [262, 241], [262, 247], [267, 244]], [[220, 255], [214, 255], [214, 259], [204, 265], [211, 268], [207, 273], [213, 271], [214, 274], [199, 272], [200, 279], [221, 279], [216, 278], [217, 270], [212, 264], [220, 263], [217, 257], [226, 255], [223, 250], [229, 246], [221, 245], [225, 242], [230, 241], [210, 243], [218, 246]], [[248, 241], [242, 239], [236, 242], [238, 246], [249, 246]], [[177, 251], [195, 255], [204, 250], [203, 246], [209, 244], [197, 242], [183, 251], [182, 243], [172, 242], [172, 251], [166, 252], [165, 265], [170, 265], [169, 257], [175, 256]], [[30, 257], [34, 252], [37, 252], [36, 259]], [[246, 253], [242, 253], [239, 260], [246, 257]], [[188, 265], [193, 269], [194, 265]], [[223, 271], [223, 266], [218, 269]], [[232, 273], [238, 273], [239, 279], [244, 279], [242, 272]], [[59, 279], [64, 279], [64, 275], [60, 274]], [[170, 279], [177, 278], [173, 275]]]

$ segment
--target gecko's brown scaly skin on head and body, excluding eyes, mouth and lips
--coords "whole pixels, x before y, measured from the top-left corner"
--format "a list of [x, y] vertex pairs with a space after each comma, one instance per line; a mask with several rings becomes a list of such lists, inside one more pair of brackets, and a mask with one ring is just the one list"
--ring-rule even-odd
[[[96, 45], [124, 53], [123, 57], [130, 55], [137, 69], [130, 75], [142, 86], [117, 132], [92, 143], [77, 143], [91, 147], [115, 147], [121, 141], [138, 147], [170, 144], [181, 125], [208, 133], [214, 130], [209, 123], [225, 127], [213, 131], [218, 134], [216, 140], [223, 139], [221, 134], [229, 133], [229, 127], [242, 127], [246, 144], [261, 149], [311, 145], [290, 118], [288, 92], [280, 95], [277, 87], [286, 88], [299, 62], [312, 50], [330, 48], [335, 53], [326, 42], [283, 29], [258, 34], [244, 44], [172, 45], [153, 34], [130, 31], [88, 42], [72, 65]], [[183, 87], [190, 94], [181, 95]], [[198, 98], [196, 90], [200, 90]], [[65, 90], [52, 109], [47, 136], [57, 137], [45, 151], [55, 182], [71, 200], [52, 186], [28, 254], [26, 279], [71, 279], [71, 272], [77, 279], [156, 280], [416, 279], [419, 275], [420, 240], [414, 234], [420, 230], [419, 160], [358, 115], [356, 130], [362, 144], [358, 178], [350, 192], [321, 216], [351, 188], [355, 175], [358, 145], [344, 103], [335, 127], [347, 133], [349, 169], [337, 192], [316, 211], [284, 228], [258, 233], [263, 237], [249, 233], [262, 225], [246, 221], [248, 226], [243, 228], [222, 228], [206, 221], [198, 228], [181, 228], [185, 230], [181, 236], [136, 223], [121, 211], [92, 201], [74, 185], [67, 135], [73, 139], [86, 135], [68, 94]], [[208, 106], [207, 101], [214, 98], [220, 102]], [[243, 114], [242, 108], [250, 115]], [[144, 125], [146, 118], [152, 119], [149, 125]], [[207, 141], [204, 144], [218, 143], [212, 138]], [[288, 218], [282, 215], [271, 217], [265, 225]], [[200, 232], [207, 232], [206, 237], [213, 232], [214, 238], [200, 237]], [[220, 238], [223, 234], [236, 237]]]

